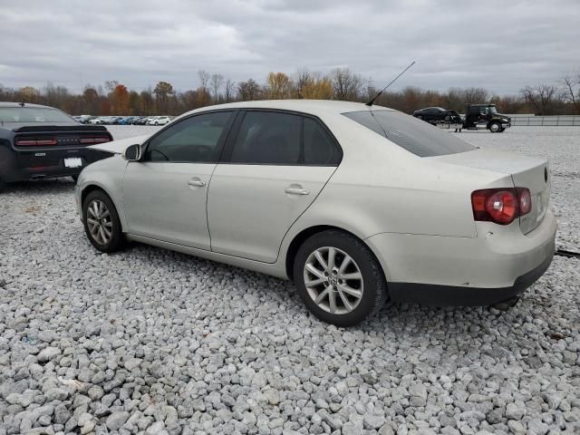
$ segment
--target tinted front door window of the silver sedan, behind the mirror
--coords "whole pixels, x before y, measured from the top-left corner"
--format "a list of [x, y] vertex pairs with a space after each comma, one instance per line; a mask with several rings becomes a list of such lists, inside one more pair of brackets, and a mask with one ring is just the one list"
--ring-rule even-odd
[[231, 117], [217, 111], [179, 121], [150, 140], [144, 160], [215, 163]]

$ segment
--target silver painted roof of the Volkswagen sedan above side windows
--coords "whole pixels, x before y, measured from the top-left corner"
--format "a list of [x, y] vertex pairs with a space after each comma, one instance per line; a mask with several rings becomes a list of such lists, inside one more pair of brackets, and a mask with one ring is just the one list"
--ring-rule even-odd
[[393, 111], [386, 107], [373, 104], [367, 106], [362, 102], [339, 102], [335, 100], [262, 100], [254, 102], [229, 102], [207, 106], [189, 113], [218, 109], [278, 109], [284, 111], [300, 111], [318, 115], [322, 113], [346, 113], [349, 111]]

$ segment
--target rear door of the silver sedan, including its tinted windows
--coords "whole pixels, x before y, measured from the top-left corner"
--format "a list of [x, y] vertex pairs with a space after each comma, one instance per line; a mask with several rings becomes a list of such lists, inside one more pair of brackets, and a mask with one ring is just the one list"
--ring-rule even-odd
[[211, 249], [274, 263], [342, 151], [321, 121], [285, 111], [245, 111], [235, 131], [209, 187]]

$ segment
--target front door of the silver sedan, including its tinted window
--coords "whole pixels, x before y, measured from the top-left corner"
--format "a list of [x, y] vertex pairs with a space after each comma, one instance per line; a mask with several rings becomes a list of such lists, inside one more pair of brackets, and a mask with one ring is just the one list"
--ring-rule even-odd
[[123, 179], [128, 232], [210, 249], [206, 202], [234, 111], [205, 112], [170, 124], [131, 161]]

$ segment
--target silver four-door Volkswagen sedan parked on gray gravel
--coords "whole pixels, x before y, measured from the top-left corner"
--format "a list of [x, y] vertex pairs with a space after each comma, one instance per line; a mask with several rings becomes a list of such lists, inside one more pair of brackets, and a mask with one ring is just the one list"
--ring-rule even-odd
[[95, 148], [114, 155], [76, 186], [94, 247], [130, 239], [290, 278], [332, 324], [387, 298], [508, 300], [554, 255], [546, 160], [381, 106], [224, 104]]

